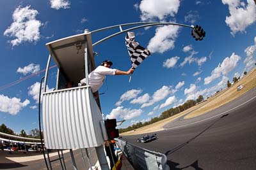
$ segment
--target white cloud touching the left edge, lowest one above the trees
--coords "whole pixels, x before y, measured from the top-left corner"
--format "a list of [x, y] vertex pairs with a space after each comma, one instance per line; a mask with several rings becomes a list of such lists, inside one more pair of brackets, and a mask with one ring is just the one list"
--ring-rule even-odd
[[11, 115], [17, 115], [22, 108], [28, 106], [29, 100], [21, 102], [19, 98], [13, 97], [9, 98], [0, 94], [0, 111], [10, 113]]

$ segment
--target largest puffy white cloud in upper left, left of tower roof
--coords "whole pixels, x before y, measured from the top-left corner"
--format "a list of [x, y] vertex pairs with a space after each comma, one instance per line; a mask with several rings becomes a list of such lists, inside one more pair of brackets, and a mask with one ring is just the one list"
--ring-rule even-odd
[[18, 6], [12, 15], [13, 23], [4, 31], [4, 36], [15, 38], [10, 41], [12, 46], [26, 41], [36, 42], [40, 39], [39, 28], [42, 23], [36, 20], [38, 11], [29, 8], [30, 6], [25, 8]]

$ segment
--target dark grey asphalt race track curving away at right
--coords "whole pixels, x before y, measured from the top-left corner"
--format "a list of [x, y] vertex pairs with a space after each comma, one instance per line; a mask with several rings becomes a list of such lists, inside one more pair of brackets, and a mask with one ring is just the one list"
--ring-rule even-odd
[[164, 153], [170, 169], [256, 169], [256, 88], [236, 100], [164, 125], [155, 141], [123, 136], [129, 143]]

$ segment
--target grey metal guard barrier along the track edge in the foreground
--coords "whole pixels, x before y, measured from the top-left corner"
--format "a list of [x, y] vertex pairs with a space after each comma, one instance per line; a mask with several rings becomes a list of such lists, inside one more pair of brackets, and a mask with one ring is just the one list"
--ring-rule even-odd
[[135, 170], [170, 170], [170, 167], [166, 164], [166, 155], [140, 148], [138, 146], [127, 143], [127, 141], [122, 139], [116, 139], [116, 143], [124, 152], [125, 157], [127, 157]]

